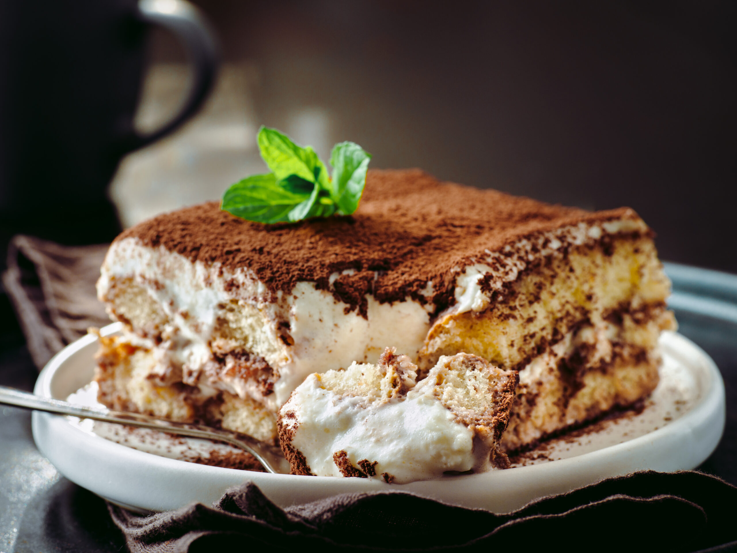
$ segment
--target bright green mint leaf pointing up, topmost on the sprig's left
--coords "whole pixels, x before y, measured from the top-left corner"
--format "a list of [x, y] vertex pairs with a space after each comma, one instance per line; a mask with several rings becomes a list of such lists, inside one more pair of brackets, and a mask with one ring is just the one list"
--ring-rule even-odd
[[289, 136], [267, 127], [259, 129], [258, 143], [261, 157], [277, 181], [296, 175], [323, 189], [328, 188], [327, 168], [312, 147], [298, 146]]

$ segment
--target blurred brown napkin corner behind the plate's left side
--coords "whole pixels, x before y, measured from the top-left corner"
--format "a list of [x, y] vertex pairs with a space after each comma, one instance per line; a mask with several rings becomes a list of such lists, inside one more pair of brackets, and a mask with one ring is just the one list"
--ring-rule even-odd
[[2, 283], [39, 370], [88, 327], [110, 324], [95, 292], [108, 246], [60, 246], [24, 235], [10, 240]]

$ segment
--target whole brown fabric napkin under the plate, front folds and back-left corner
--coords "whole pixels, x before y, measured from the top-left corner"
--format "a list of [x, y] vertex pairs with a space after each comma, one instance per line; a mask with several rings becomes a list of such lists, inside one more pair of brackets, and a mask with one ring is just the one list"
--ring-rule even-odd
[[[39, 369], [91, 326], [108, 324], [95, 282], [108, 246], [10, 243], [3, 284]], [[489, 493], [493, 493], [490, 490]], [[139, 516], [108, 504], [132, 552], [229, 549], [737, 551], [737, 488], [688, 471], [646, 471], [542, 498], [497, 515], [396, 491], [338, 495], [281, 509], [254, 484], [213, 507]], [[730, 543], [731, 542], [731, 543]]]

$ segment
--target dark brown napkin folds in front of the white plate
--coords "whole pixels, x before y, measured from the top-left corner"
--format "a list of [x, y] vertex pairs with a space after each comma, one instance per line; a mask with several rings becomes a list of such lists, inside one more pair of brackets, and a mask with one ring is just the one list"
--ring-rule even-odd
[[736, 506], [736, 487], [693, 471], [607, 479], [506, 515], [408, 493], [346, 494], [280, 509], [251, 482], [212, 507], [138, 516], [108, 504], [133, 553], [694, 552], [737, 540]]

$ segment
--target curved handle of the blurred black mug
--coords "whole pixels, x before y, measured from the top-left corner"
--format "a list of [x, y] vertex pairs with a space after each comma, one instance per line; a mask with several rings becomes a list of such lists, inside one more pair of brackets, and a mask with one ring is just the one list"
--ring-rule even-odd
[[197, 113], [212, 90], [220, 63], [217, 39], [197, 7], [186, 0], [139, 0], [138, 7], [142, 21], [164, 27], [179, 38], [189, 63], [194, 66], [194, 78], [179, 113], [152, 133], [133, 131], [133, 135], [125, 141], [126, 152], [156, 142]]

